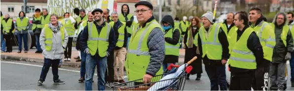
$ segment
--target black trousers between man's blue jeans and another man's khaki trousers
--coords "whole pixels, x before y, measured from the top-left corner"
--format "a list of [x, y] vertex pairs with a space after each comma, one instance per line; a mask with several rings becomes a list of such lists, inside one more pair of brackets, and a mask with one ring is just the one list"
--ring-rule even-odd
[[114, 63], [114, 51], [110, 52], [110, 56], [107, 57], [107, 67], [108, 67], [108, 69], [105, 72], [105, 82], [113, 83], [113, 78], [114, 78], [114, 66], [113, 66], [113, 63]]

